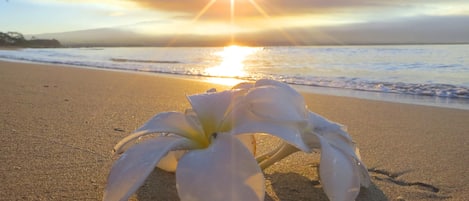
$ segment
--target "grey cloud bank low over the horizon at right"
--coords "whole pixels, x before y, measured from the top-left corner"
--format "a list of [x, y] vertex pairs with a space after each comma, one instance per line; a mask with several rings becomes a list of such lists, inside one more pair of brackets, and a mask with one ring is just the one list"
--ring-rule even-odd
[[[285, 32], [297, 44], [423, 44], [469, 43], [469, 16], [418, 16], [405, 21], [386, 20], [335, 27], [301, 27]], [[272, 31], [259, 33], [272, 36]], [[251, 36], [255, 38], [254, 36]], [[263, 40], [281, 41], [264, 37]], [[285, 41], [285, 40], [284, 40]]]

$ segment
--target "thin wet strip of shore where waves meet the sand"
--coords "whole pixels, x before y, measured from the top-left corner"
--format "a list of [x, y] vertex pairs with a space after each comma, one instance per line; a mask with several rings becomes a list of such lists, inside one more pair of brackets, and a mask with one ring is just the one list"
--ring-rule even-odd
[[[95, 69], [95, 70], [114, 71], [114, 72], [123, 72], [123, 73], [147, 74], [147, 75], [153, 75], [153, 76], [164, 76], [164, 77], [174, 77], [178, 79], [204, 81], [204, 82], [209, 82], [213, 84], [221, 84], [221, 85], [226, 85], [226, 86], [233, 86], [234, 84], [241, 82], [241, 81], [249, 81], [249, 80], [243, 80], [243, 79], [238, 79], [238, 78], [179, 75], [179, 74], [171, 74], [171, 73], [146, 72], [146, 71], [127, 70], [127, 69], [100, 68], [100, 67], [94, 67], [94, 66], [79, 66], [79, 65], [73, 65], [73, 64], [54, 64], [54, 63], [35, 62], [35, 61], [26, 61], [26, 60], [23, 61], [23, 60], [0, 59], [0, 62], [27, 63], [27, 64], [58, 66], [58, 67], [66, 66], [66, 67], [72, 67], [72, 68]], [[379, 92], [379, 91], [363, 91], [363, 90], [343, 89], [343, 88], [334, 88], [334, 87], [317, 87], [317, 86], [308, 86], [308, 85], [299, 85], [299, 84], [292, 84], [292, 86], [298, 91], [305, 92], [305, 93], [358, 98], [358, 99], [364, 99], [364, 100], [384, 101], [384, 102], [391, 102], [391, 103], [403, 103], [403, 104], [412, 104], [412, 105], [423, 105], [423, 106], [433, 106], [433, 107], [441, 107], [441, 108], [469, 110], [469, 99], [464, 99], [464, 98], [411, 95], [411, 94], [400, 94], [400, 93], [392, 93], [392, 92], [385, 93], [385, 92]]]

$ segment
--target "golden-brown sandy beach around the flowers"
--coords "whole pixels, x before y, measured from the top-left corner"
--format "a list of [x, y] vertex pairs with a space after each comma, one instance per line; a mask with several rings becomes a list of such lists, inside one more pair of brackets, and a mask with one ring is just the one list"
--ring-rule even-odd
[[[0, 200], [101, 200], [113, 146], [186, 94], [226, 86], [159, 75], [0, 62]], [[357, 200], [467, 200], [469, 110], [304, 94], [310, 110], [348, 127], [372, 186]], [[262, 146], [275, 143], [259, 138]], [[265, 170], [266, 200], [328, 200], [319, 154]], [[178, 200], [155, 170], [132, 200]]]

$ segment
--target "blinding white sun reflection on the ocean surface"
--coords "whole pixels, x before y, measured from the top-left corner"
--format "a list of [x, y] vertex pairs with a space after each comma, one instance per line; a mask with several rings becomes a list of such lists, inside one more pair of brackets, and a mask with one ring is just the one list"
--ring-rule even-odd
[[254, 54], [259, 48], [231, 45], [223, 48], [223, 51], [215, 55], [221, 57], [222, 62], [218, 66], [207, 68], [205, 73], [214, 77], [244, 77], [244, 60], [247, 56]]

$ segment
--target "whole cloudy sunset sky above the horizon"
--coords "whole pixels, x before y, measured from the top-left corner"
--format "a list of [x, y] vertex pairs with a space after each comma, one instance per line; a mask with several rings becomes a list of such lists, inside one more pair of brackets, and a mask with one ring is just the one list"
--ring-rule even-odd
[[75, 41], [457, 43], [469, 42], [469, 1], [0, 0], [7, 31]]

